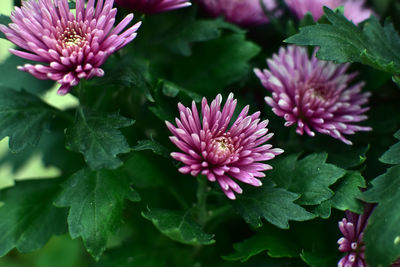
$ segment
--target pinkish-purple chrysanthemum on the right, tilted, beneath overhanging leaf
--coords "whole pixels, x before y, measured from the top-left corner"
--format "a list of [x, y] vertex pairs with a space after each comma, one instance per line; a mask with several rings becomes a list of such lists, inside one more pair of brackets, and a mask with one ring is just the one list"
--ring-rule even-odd
[[370, 93], [361, 93], [364, 83], [348, 86], [357, 73], [346, 74], [348, 64], [318, 60], [315, 52], [308, 57], [304, 47], [280, 48], [267, 60], [269, 70], [255, 69], [263, 86], [272, 92], [265, 101], [272, 111], [286, 120], [285, 126], [297, 124], [296, 132], [314, 136], [314, 131], [327, 134], [346, 144], [343, 135], [371, 131], [355, 125], [367, 119]]

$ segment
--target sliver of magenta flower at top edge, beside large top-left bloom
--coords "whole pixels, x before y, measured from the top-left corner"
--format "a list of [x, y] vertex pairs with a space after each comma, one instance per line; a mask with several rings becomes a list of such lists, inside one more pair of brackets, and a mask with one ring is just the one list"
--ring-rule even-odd
[[192, 5], [187, 0], [115, 0], [115, 3], [126, 9], [146, 14], [154, 14]]

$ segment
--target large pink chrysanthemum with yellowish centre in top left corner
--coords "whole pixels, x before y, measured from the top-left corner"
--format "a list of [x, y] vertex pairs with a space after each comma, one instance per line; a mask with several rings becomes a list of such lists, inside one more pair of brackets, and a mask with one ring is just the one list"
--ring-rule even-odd
[[[25, 64], [18, 69], [38, 79], [61, 84], [59, 94], [66, 94], [80, 79], [101, 77], [100, 66], [107, 57], [136, 37], [140, 22], [123, 33], [132, 20], [128, 15], [115, 28], [117, 9], [114, 0], [76, 1], [76, 16], [67, 0], [28, 0], [15, 7], [9, 27], [0, 25], [8, 40], [25, 51], [10, 49], [16, 56], [45, 63]], [[120, 34], [121, 33], [121, 34]]]

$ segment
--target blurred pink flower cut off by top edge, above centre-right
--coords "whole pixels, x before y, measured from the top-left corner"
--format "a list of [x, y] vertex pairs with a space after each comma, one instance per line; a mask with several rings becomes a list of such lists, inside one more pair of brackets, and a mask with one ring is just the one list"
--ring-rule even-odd
[[[227, 21], [243, 27], [266, 24], [269, 21], [260, 0], [198, 0], [198, 2], [211, 16], [224, 16]], [[263, 3], [271, 15], [280, 14], [276, 0], [263, 0]]]

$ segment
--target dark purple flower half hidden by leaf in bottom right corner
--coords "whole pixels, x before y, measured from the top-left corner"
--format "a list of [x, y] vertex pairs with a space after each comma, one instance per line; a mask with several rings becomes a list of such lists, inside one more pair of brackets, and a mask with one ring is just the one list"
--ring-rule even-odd
[[346, 255], [338, 262], [338, 267], [366, 267], [365, 245], [363, 241], [364, 229], [374, 205], [365, 204], [364, 213], [356, 214], [346, 211], [346, 217], [339, 222], [339, 229], [343, 237], [337, 243], [339, 250]]

